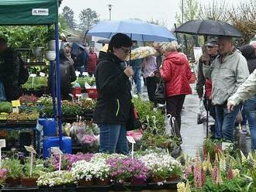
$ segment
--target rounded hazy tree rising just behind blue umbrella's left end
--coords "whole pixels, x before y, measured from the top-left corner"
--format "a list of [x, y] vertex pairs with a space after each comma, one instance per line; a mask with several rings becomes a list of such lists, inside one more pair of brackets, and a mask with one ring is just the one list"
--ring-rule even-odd
[[80, 25], [79, 29], [82, 31], [87, 31], [91, 29], [92, 26], [99, 22], [99, 15], [92, 11], [92, 9], [83, 9], [79, 15]]

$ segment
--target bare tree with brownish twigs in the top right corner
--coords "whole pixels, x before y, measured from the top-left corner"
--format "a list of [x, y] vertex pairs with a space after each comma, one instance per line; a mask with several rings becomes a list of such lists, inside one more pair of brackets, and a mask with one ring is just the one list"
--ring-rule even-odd
[[243, 33], [244, 43], [249, 43], [256, 33], [256, 2], [240, 2], [237, 7], [233, 6], [230, 11], [230, 22]]

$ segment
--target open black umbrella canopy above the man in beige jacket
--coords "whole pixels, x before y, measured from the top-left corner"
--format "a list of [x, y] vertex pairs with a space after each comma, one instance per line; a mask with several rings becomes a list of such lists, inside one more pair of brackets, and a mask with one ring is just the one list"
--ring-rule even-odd
[[214, 20], [191, 20], [175, 29], [175, 33], [187, 33], [192, 35], [209, 36], [234, 36], [241, 37], [242, 34], [234, 26], [227, 22]]

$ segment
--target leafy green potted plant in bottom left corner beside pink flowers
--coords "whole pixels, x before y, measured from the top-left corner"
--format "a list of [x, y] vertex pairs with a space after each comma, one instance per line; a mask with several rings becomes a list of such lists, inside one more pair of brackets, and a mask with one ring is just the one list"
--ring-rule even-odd
[[7, 178], [5, 183], [10, 186], [16, 186], [20, 184], [20, 177], [22, 176], [22, 164], [19, 159], [4, 159], [2, 161], [2, 168], [7, 170]]

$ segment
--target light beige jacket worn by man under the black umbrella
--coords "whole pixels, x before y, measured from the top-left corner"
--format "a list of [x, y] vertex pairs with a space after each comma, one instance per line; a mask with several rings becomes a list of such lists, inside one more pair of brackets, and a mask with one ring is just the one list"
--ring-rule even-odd
[[203, 64], [203, 71], [212, 80], [213, 105], [223, 105], [249, 75], [247, 61], [239, 50], [224, 57], [223, 61], [220, 56], [216, 57], [211, 66]]

